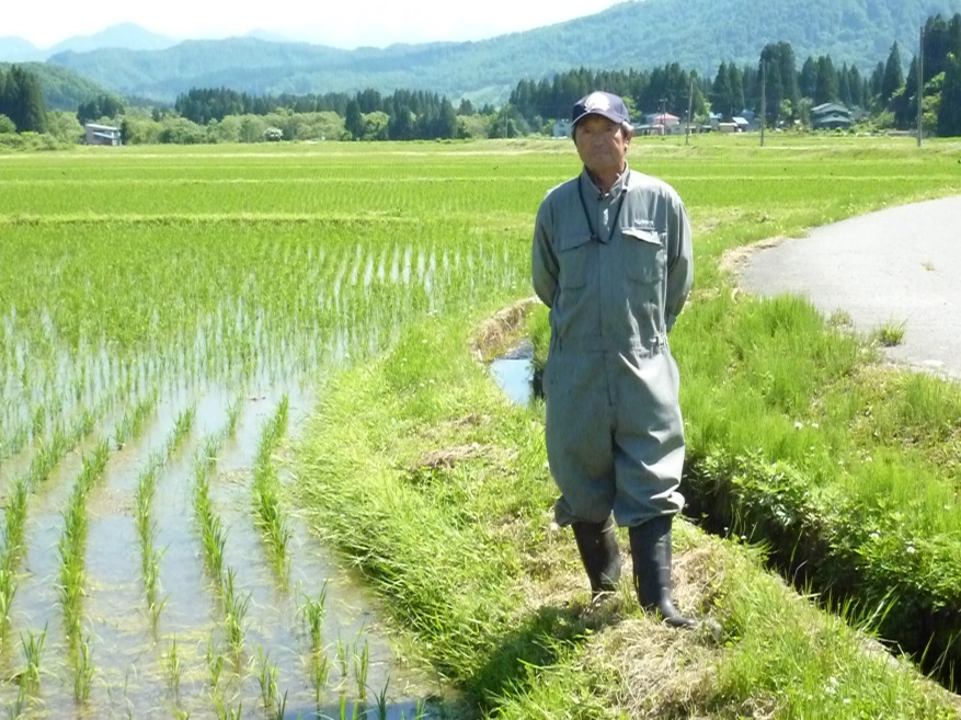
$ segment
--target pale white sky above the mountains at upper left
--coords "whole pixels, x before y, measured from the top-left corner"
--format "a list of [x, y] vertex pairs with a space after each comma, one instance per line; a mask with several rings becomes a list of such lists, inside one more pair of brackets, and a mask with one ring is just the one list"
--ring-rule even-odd
[[591, 15], [617, 0], [161, 0], [91, 4], [78, 0], [10, 2], [0, 13], [0, 37], [46, 48], [73, 35], [90, 35], [131, 22], [176, 39], [278, 33], [334, 47], [382, 47], [391, 43], [476, 41]]

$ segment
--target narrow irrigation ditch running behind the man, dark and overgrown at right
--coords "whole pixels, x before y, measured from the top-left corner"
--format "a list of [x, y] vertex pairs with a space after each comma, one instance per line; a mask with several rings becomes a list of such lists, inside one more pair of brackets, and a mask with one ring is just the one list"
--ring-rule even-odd
[[[493, 319], [499, 332], [482, 331], [496, 336], [485, 357], [491, 376], [518, 404], [542, 398], [542, 365], [524, 329], [531, 307], [512, 306]], [[802, 473], [759, 452], [688, 448], [680, 491], [683, 514], [703, 532], [764, 547], [767, 567], [797, 592], [874, 633], [889, 652], [907, 654], [949, 692], [961, 689], [961, 586], [930, 572], [938, 559], [949, 560], [950, 548], [918, 541], [903, 547], [909, 563], [868, 562], [861, 548], [883, 541], [877, 521], [842, 493], [815, 492]]]

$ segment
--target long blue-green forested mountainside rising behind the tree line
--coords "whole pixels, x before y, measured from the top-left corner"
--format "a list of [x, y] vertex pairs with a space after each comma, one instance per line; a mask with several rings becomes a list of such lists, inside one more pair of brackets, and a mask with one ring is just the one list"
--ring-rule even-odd
[[522, 78], [581, 66], [677, 61], [713, 73], [721, 61], [757, 62], [760, 49], [778, 41], [791, 43], [799, 65], [808, 55], [831, 55], [837, 65], [856, 64], [867, 72], [886, 59], [895, 39], [907, 61], [918, 28], [938, 12], [961, 12], [961, 0], [643, 0], [478, 43], [339, 50], [231, 38], [158, 52], [66, 53], [49, 61], [124, 94], [168, 101], [192, 87], [220, 85], [258, 94], [371, 87], [504, 98]]

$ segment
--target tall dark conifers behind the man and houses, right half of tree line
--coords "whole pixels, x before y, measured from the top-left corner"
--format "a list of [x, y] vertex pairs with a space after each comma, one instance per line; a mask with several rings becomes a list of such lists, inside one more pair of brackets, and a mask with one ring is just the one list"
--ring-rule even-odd
[[[703, 117], [709, 106], [730, 118], [745, 110], [760, 113], [764, 76], [764, 115], [771, 126], [793, 121], [808, 124], [812, 107], [838, 102], [863, 110], [876, 125], [906, 129], [917, 117], [917, 61], [913, 58], [905, 75], [901, 48], [894, 43], [886, 61], [869, 75], [846, 64], [837, 67], [830, 56], [808, 57], [799, 69], [791, 45], [776, 43], [762, 50], [756, 66], [722, 62], [713, 79], [700, 78], [677, 64], [650, 71], [581, 68], [549, 80], [522, 80], [510, 102], [528, 123], [536, 123], [564, 117], [577, 98], [603, 89], [622, 95], [642, 113], [666, 110], [684, 117], [693, 89], [695, 116]], [[961, 135], [961, 14], [928, 19], [923, 71], [926, 132]]]

